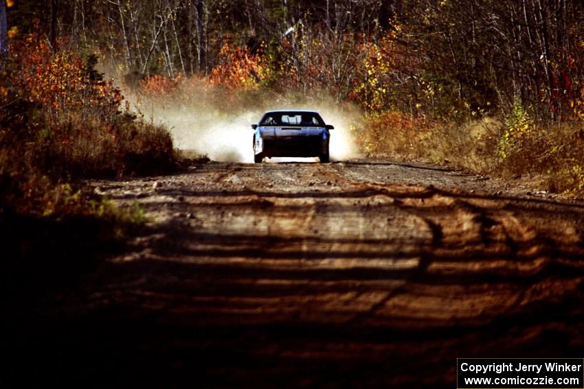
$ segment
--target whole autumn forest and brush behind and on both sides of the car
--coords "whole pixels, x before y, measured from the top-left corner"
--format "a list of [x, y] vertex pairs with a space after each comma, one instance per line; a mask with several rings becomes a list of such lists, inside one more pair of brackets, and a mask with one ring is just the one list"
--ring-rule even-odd
[[2, 0], [0, 56], [4, 215], [139, 220], [68, 182], [175, 166], [161, 103], [326, 102], [360, 154], [584, 193], [581, 1]]

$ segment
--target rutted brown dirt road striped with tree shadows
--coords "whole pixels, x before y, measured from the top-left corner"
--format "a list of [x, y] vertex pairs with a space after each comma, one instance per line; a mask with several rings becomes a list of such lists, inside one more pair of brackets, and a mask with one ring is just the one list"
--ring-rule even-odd
[[372, 160], [93, 185], [152, 222], [52, 300], [71, 382], [454, 388], [456, 357], [584, 355], [582, 203]]

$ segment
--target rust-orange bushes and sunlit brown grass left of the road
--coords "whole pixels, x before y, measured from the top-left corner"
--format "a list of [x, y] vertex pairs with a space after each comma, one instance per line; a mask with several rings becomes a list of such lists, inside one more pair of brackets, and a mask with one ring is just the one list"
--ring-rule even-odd
[[[90, 201], [67, 182], [172, 165], [170, 134], [135, 120], [94, 64], [73, 50], [54, 53], [42, 34], [11, 40], [0, 73], [0, 218], [9, 212], [116, 219], [115, 207]], [[102, 216], [100, 207], [107, 208]]]

